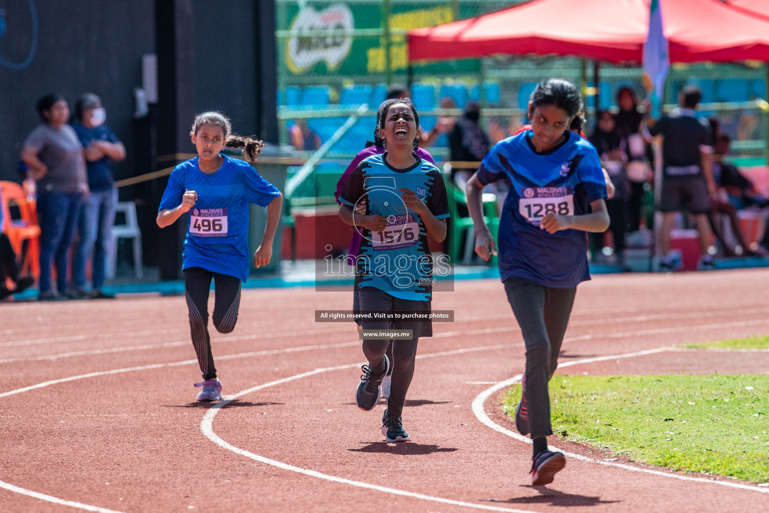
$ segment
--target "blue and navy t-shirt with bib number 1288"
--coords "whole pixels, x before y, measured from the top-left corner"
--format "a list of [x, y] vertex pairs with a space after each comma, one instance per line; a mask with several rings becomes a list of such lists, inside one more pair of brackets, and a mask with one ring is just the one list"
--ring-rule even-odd
[[507, 178], [512, 186], [499, 222], [502, 281], [528, 278], [554, 288], [576, 287], [590, 279], [588, 238], [581, 230], [549, 234], [539, 228], [545, 215], [584, 215], [591, 202], [606, 198], [601, 161], [593, 145], [572, 132], [547, 152], [531, 145], [531, 130], [491, 148], [481, 167], [482, 185]]

